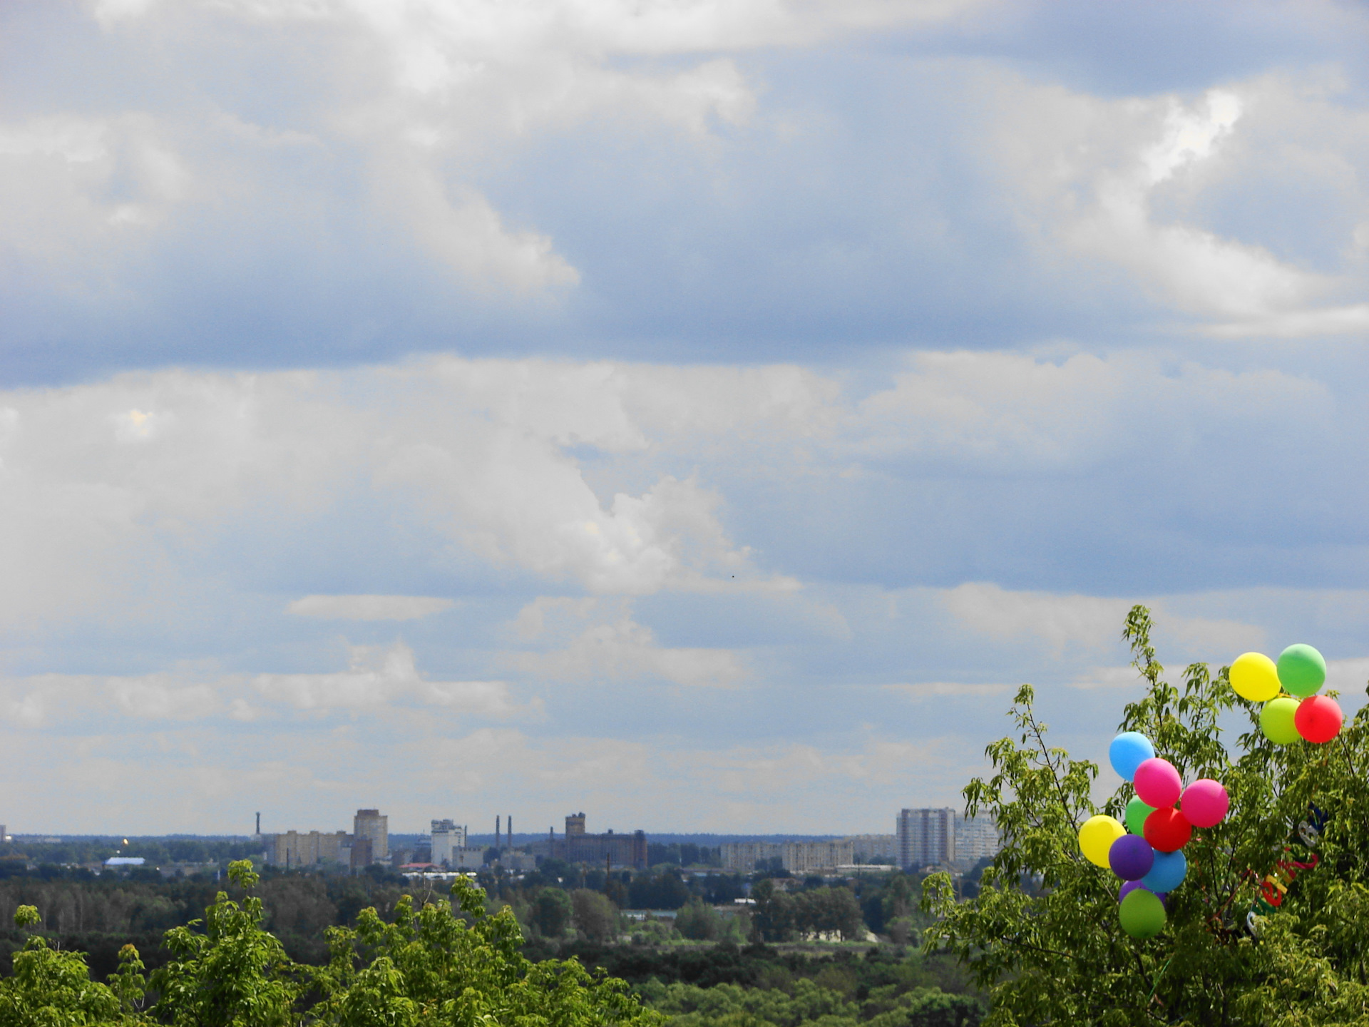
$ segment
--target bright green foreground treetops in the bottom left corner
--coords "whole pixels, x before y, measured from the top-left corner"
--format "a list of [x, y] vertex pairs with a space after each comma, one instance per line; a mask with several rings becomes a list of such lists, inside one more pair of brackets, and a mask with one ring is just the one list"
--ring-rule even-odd
[[[464, 878], [452, 902], [413, 908], [400, 898], [393, 922], [364, 909], [356, 928], [329, 930], [324, 967], [289, 959], [263, 928], [252, 864], [233, 863], [229, 876], [244, 893], [219, 891], [203, 922], [170, 930], [175, 959], [144, 979], [137, 949], [125, 946], [110, 983], [92, 982], [85, 959], [57, 952], [33, 934], [0, 980], [0, 1027], [175, 1024], [177, 1027], [649, 1027], [622, 980], [589, 974], [574, 959], [530, 963], [512, 912], [486, 913], [483, 894]], [[21, 906], [16, 926], [38, 923]], [[193, 930], [200, 927], [203, 930]], [[148, 1008], [144, 998], [156, 993]]]

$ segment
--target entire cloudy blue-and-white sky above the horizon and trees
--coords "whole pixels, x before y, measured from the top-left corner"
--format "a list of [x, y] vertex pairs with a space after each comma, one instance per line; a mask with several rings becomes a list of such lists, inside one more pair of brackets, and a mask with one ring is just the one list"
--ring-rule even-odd
[[888, 833], [1135, 603], [1358, 709], [1366, 341], [1359, 4], [8, 0], [0, 823]]

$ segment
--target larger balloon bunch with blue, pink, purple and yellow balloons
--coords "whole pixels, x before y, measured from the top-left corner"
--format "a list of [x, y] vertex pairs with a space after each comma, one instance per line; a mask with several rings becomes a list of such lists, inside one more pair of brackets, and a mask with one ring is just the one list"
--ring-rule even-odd
[[1188, 874], [1183, 848], [1195, 827], [1221, 823], [1231, 797], [1210, 778], [1184, 787], [1173, 764], [1155, 756], [1155, 746], [1136, 731], [1113, 738], [1108, 759], [1136, 797], [1127, 802], [1125, 827], [1110, 816], [1088, 817], [1079, 828], [1079, 848], [1090, 863], [1121, 878], [1121, 928], [1132, 938], [1153, 938], [1165, 926], [1165, 897]]

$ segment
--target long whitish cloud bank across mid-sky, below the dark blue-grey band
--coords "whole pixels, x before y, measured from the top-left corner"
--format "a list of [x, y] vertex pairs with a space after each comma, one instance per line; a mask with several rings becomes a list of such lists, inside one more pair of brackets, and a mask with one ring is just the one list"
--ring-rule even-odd
[[[1342, 430], [1316, 379], [1125, 352], [919, 353], [857, 403], [832, 378], [786, 366], [439, 357], [122, 375], [0, 392], [0, 624], [11, 626], [97, 608], [141, 616], [130, 594], [170, 603], [188, 587], [188, 545], [212, 545], [267, 508], [272, 526], [326, 537], [345, 530], [337, 504], [349, 490], [420, 526], [430, 556], [452, 544], [550, 586], [795, 593], [794, 575], [761, 570], [732, 538], [704, 470], [745, 464], [780, 489], [906, 457], [1021, 475], [1233, 437], [1325, 446]], [[689, 477], [667, 470], [680, 464]], [[988, 601], [967, 587], [957, 603]], [[114, 594], [123, 598], [110, 607]], [[434, 601], [308, 597], [290, 609], [409, 619]], [[1112, 618], [1099, 607], [1079, 616]]]

